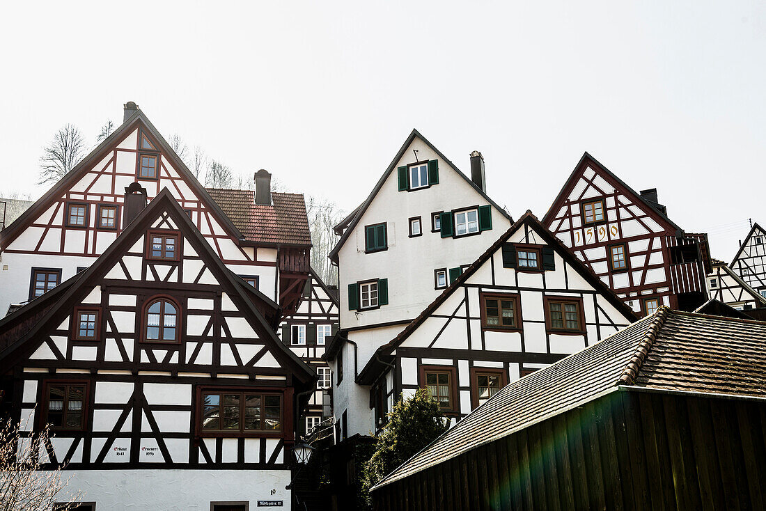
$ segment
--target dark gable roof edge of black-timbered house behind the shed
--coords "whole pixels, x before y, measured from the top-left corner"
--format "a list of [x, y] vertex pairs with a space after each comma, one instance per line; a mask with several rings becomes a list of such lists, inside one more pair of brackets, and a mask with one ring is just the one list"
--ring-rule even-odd
[[623, 313], [624, 316], [631, 321], [635, 321], [637, 319], [636, 313], [633, 313], [633, 310], [630, 309], [630, 307], [627, 306], [623, 300], [620, 300], [620, 298], [614, 294], [613, 290], [611, 290], [600, 278], [596, 277], [593, 271], [586, 267], [581, 260], [575, 257], [575, 255], [572, 254], [571, 251], [563, 243], [561, 243], [561, 240], [559, 240], [558, 237], [555, 237], [553, 234], [551, 234], [551, 231], [548, 231], [548, 228], [545, 228], [545, 225], [543, 225], [538, 220], [538, 218], [535, 217], [535, 215], [532, 215], [532, 211], [527, 210], [526, 213], [522, 215], [521, 218], [519, 218], [519, 220], [511, 225], [508, 231], [504, 232], [492, 245], [490, 245], [488, 249], [486, 249], [483, 254], [479, 256], [478, 259], [473, 261], [473, 264], [466, 268], [460, 277], [457, 277], [453, 283], [447, 286], [447, 289], [445, 289], [439, 296], [437, 296], [436, 300], [431, 302], [423, 310], [423, 312], [417, 316], [417, 318], [413, 319], [412, 323], [410, 323], [404, 330], [399, 332], [398, 336], [394, 337], [394, 339], [392, 339], [390, 342], [387, 342], [378, 348], [378, 350], [375, 352], [375, 355], [372, 356], [367, 365], [365, 365], [365, 368], [359, 372], [359, 382], [368, 384], [372, 383], [368, 382], [368, 379], [374, 379], [374, 375], [378, 374], [378, 370], [383, 369], [384, 367], [384, 364], [380, 361], [380, 357], [391, 355], [391, 352], [400, 346], [402, 342], [404, 342], [404, 339], [407, 339], [409, 336], [411, 336], [412, 332], [414, 332], [418, 326], [421, 326], [421, 324], [431, 314], [433, 314], [434, 311], [436, 311], [437, 308], [442, 303], [444, 303], [444, 301], [447, 300], [447, 298], [449, 298], [455, 290], [459, 289], [460, 286], [466, 282], [466, 280], [470, 279], [470, 277], [476, 273], [476, 270], [479, 270], [479, 268], [482, 267], [482, 265], [486, 263], [486, 261], [489, 260], [493, 254], [500, 250], [502, 244], [506, 243], [506, 241], [509, 240], [513, 233], [518, 231], [519, 228], [522, 228], [524, 225], [528, 225], [535, 231], [535, 234], [538, 234], [540, 237], [542, 237], [542, 239], [545, 241], [545, 243], [548, 244], [549, 247], [552, 247], [561, 257], [563, 257], [564, 260], [570, 264], [571, 267], [577, 271], [578, 274], [580, 274], [586, 282], [590, 283], [595, 290], [599, 291], [604, 296], [604, 298], [606, 298], [609, 303], [614, 306], [615, 309], [619, 310], [620, 313]]

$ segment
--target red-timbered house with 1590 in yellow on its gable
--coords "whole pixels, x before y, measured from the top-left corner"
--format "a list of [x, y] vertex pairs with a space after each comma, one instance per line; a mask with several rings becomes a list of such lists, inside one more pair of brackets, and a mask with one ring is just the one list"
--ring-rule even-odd
[[585, 152], [543, 224], [641, 315], [707, 300], [706, 234], [686, 233], [656, 188], [637, 193]]

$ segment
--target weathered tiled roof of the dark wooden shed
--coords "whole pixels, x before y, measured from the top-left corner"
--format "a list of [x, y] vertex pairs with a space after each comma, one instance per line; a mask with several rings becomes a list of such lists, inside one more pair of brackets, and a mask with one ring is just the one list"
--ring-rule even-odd
[[372, 490], [620, 388], [766, 398], [764, 338], [763, 322], [662, 306], [653, 316], [506, 385]]

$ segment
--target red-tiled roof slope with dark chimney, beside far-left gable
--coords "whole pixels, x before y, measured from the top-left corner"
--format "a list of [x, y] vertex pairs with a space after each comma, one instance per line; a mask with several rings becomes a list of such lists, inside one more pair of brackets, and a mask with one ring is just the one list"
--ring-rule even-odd
[[252, 190], [207, 190], [247, 241], [311, 246], [303, 194], [273, 192], [272, 205], [267, 206], [255, 204]]

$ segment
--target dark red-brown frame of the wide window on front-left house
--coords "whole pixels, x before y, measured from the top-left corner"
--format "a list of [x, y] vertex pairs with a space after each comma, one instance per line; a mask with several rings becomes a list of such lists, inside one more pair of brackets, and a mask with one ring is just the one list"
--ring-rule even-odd
[[[202, 394], [208, 392], [211, 394], [240, 394], [240, 428], [237, 431], [232, 430], [212, 430], [202, 429], [202, 420], [205, 418], [202, 403]], [[244, 395], [277, 395], [280, 397], [280, 429], [278, 430], [245, 430], [244, 429]], [[194, 431], [197, 438], [281, 438], [290, 434], [292, 427], [286, 424], [286, 406], [288, 405], [288, 396], [284, 388], [278, 387], [246, 387], [246, 386], [228, 386], [228, 385], [197, 385], [195, 388], [195, 405], [193, 406], [195, 419]], [[221, 405], [219, 405], [221, 406]], [[264, 405], [261, 405], [265, 408]], [[264, 417], [261, 417], [261, 421]]]

